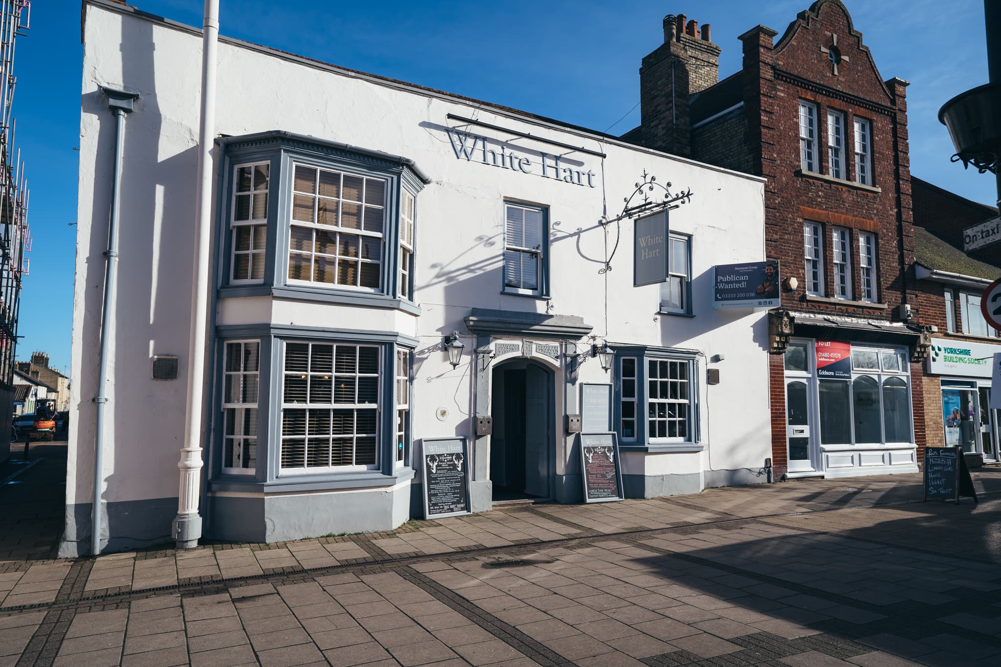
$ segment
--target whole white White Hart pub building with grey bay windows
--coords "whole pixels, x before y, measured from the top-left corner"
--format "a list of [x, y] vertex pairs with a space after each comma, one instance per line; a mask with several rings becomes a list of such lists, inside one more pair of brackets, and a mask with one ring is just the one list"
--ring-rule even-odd
[[582, 422], [627, 497], [766, 480], [765, 311], [713, 307], [763, 179], [219, 37], [201, 230], [202, 31], [87, 0], [83, 40], [62, 555], [392, 529], [440, 439], [472, 512], [581, 502]]

